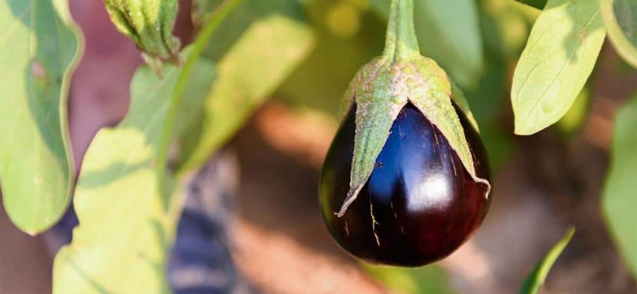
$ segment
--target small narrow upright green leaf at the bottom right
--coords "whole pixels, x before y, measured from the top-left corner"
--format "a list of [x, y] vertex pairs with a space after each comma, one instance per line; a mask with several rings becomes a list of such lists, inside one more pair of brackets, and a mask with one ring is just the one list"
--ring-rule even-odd
[[535, 269], [533, 269], [530, 275], [526, 278], [524, 284], [522, 285], [522, 289], [520, 290], [520, 294], [539, 293], [540, 288], [544, 284], [544, 280], [548, 276], [550, 268], [553, 267], [553, 264], [555, 264], [557, 257], [562, 254], [562, 251], [564, 251], [564, 248], [566, 248], [566, 245], [568, 245], [568, 242], [571, 241], [571, 238], [573, 238], [574, 234], [575, 228], [568, 228], [568, 231], [566, 231], [566, 235], [564, 235], [562, 239], [557, 241], [557, 244], [555, 244], [555, 246], [553, 246], [553, 248], [551, 248], [546, 253], [544, 259], [542, 259], [539, 264], [535, 266]]

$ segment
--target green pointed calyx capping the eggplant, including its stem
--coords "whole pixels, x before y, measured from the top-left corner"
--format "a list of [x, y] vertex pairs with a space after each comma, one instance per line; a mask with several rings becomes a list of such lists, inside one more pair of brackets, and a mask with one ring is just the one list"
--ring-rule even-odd
[[[438, 127], [474, 181], [487, 185], [485, 197], [489, 196], [491, 184], [476, 176], [471, 149], [451, 102], [456, 101], [472, 120], [466, 100], [433, 59], [420, 55], [413, 26], [413, 0], [392, 0], [383, 55], [358, 71], [344, 99], [347, 109], [353, 102], [357, 104], [356, 135], [350, 190], [337, 216], [345, 214], [364, 187], [394, 120], [409, 102]], [[474, 120], [472, 125], [476, 126]]]

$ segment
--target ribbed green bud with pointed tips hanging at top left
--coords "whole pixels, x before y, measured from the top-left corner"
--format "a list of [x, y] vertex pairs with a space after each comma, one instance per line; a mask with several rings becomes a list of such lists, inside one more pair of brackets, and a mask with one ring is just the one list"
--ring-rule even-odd
[[181, 43], [172, 35], [178, 0], [104, 0], [111, 22], [135, 42], [145, 62], [159, 73], [163, 62], [179, 64]]

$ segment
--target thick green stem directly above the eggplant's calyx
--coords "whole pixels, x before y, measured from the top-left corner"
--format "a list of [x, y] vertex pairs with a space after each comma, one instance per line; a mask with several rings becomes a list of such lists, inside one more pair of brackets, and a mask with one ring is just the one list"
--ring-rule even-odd
[[413, 27], [413, 0], [392, 0], [383, 57], [394, 62], [420, 57]]

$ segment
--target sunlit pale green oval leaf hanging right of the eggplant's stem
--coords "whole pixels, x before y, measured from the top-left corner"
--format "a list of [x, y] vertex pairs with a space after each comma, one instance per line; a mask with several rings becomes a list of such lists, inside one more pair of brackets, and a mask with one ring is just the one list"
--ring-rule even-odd
[[564, 116], [591, 75], [605, 35], [598, 1], [548, 1], [513, 75], [515, 134], [534, 134]]

